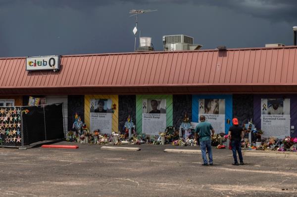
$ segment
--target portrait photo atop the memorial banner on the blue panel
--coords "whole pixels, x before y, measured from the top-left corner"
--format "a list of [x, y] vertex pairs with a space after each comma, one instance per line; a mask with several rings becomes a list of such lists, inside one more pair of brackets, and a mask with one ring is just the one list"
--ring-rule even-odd
[[199, 114], [225, 114], [225, 99], [199, 99]]

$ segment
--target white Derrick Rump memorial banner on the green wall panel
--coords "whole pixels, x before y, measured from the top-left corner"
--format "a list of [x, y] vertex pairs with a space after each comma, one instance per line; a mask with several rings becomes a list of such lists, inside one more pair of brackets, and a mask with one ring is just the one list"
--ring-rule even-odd
[[143, 99], [142, 132], [159, 135], [166, 128], [166, 99]]

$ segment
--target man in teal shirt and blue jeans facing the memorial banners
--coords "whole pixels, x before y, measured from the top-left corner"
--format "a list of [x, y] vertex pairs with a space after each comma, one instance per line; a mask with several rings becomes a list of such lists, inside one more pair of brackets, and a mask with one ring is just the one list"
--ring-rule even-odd
[[[205, 116], [200, 116], [200, 122], [197, 124], [195, 129], [195, 138], [199, 135], [200, 149], [202, 153], [203, 164], [207, 166], [206, 149], [208, 152], [209, 165], [213, 165], [212, 162], [212, 151], [211, 151], [211, 136], [214, 134], [214, 130], [209, 122], [205, 121]], [[212, 132], [212, 134], [210, 133]]]

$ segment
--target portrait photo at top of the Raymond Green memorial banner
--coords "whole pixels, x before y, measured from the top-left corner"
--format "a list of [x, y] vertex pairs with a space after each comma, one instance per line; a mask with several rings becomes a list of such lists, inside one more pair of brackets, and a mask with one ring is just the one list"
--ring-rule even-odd
[[290, 115], [290, 99], [261, 99], [262, 115]]

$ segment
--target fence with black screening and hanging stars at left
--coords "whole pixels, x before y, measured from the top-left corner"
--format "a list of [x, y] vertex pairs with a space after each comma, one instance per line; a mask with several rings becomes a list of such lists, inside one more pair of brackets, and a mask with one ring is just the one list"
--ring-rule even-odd
[[25, 147], [64, 138], [63, 104], [0, 107], [0, 146]]

